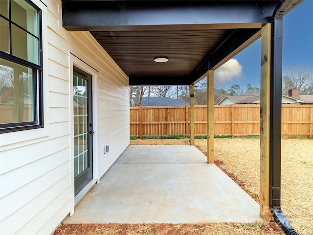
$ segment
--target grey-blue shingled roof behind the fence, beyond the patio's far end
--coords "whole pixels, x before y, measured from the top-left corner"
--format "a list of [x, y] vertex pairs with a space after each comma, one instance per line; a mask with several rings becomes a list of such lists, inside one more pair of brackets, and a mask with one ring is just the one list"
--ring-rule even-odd
[[[136, 97], [133, 97], [134, 101]], [[189, 102], [170, 97], [142, 97], [141, 106], [178, 106], [189, 105]], [[131, 105], [132, 106], [132, 105]]]

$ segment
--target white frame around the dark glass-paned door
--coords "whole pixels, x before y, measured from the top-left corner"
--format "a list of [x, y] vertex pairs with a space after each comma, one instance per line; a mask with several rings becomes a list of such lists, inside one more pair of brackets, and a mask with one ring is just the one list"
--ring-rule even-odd
[[[85, 71], [91, 75], [92, 84], [92, 123], [93, 123], [93, 142], [92, 142], [92, 162], [93, 162], [93, 179], [75, 196], [75, 182], [74, 182], [74, 109], [73, 109], [73, 73], [74, 67]], [[98, 71], [93, 69], [74, 54], [69, 52], [69, 107], [70, 107], [70, 212], [71, 216], [75, 212], [75, 205], [83, 198], [92, 186], [99, 182], [98, 177], [98, 123], [97, 123], [97, 74]]]

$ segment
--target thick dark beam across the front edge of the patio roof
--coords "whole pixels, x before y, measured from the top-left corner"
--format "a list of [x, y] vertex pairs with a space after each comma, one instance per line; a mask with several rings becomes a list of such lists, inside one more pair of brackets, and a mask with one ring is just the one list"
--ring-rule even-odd
[[278, 2], [62, 0], [62, 16], [63, 26], [70, 31], [134, 30], [136, 26], [151, 30], [156, 25], [170, 25], [171, 30], [184, 25], [259, 25], [270, 21]]

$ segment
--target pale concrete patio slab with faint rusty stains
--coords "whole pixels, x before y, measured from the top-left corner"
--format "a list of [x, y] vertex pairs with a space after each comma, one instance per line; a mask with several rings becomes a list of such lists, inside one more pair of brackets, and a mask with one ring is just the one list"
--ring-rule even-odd
[[189, 145], [130, 145], [64, 223], [254, 223], [259, 204]]

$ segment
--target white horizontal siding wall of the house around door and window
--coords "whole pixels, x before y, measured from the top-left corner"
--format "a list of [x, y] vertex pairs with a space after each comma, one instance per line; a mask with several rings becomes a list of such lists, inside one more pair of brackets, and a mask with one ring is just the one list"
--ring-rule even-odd
[[[77, 65], [82, 69], [90, 69], [95, 84], [95, 179], [107, 171], [130, 142], [128, 77], [89, 32], [67, 32], [62, 27], [60, 0], [33, 2], [43, 11], [45, 127], [0, 134], [3, 235], [50, 234], [73, 210], [73, 63], [79, 61]], [[110, 146], [106, 154], [104, 145]]]

